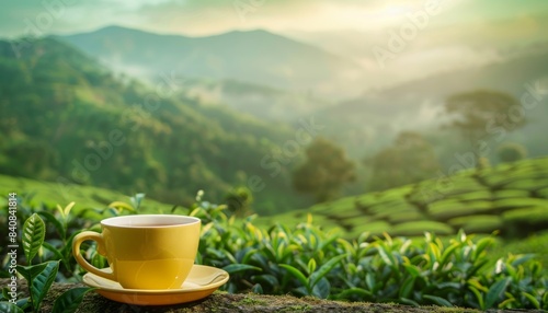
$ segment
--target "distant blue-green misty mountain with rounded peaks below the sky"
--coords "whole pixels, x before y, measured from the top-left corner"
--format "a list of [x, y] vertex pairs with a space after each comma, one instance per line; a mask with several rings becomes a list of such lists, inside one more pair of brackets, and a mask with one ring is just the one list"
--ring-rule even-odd
[[329, 96], [363, 90], [354, 86], [364, 74], [359, 65], [266, 31], [185, 37], [110, 26], [61, 38], [118, 70], [147, 78], [175, 71]]

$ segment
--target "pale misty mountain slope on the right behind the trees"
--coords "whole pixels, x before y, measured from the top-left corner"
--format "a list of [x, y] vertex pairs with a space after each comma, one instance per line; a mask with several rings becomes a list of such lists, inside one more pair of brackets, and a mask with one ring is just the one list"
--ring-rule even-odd
[[[487, 66], [439, 73], [393, 88], [370, 92], [361, 97], [319, 112], [319, 120], [328, 125], [328, 137], [336, 140], [354, 158], [370, 155], [402, 130], [436, 134], [447, 120], [443, 104], [447, 96], [478, 89], [513, 94], [521, 100], [532, 85], [541, 84], [548, 92], [548, 47], [537, 45], [528, 54]], [[534, 111], [526, 112], [529, 123], [507, 137], [524, 142], [532, 154], [541, 151], [541, 134], [546, 132], [548, 96]]]

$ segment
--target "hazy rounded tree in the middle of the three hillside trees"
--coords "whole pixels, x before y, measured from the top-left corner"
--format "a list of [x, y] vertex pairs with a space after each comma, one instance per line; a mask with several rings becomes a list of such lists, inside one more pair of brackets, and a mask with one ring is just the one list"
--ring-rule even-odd
[[370, 188], [384, 190], [432, 178], [439, 170], [434, 148], [420, 134], [401, 132], [393, 144], [364, 161], [373, 171]]

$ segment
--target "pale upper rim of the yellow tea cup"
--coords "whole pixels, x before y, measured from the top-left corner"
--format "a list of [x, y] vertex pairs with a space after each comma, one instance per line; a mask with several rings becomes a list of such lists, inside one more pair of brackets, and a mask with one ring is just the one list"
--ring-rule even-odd
[[[122, 224], [121, 220], [137, 220], [146, 221], [150, 218], [160, 218], [165, 219], [164, 222], [168, 224], [162, 225], [151, 225], [151, 224]], [[169, 229], [169, 228], [179, 228], [179, 227], [187, 227], [196, 223], [201, 223], [202, 220], [196, 217], [190, 216], [178, 216], [178, 215], [130, 215], [130, 216], [122, 216], [122, 217], [112, 217], [101, 221], [102, 227], [109, 228], [119, 228], [119, 229]], [[163, 223], [163, 222], [162, 222]]]

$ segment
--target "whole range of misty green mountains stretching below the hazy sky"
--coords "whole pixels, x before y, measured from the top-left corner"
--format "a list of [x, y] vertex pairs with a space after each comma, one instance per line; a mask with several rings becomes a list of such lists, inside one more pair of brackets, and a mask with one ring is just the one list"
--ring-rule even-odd
[[[0, 143], [2, 173], [150, 190], [152, 198], [172, 202], [191, 199], [198, 189], [221, 198], [259, 176], [269, 188], [255, 195], [256, 207], [274, 212], [309, 201], [290, 184], [302, 154], [283, 166], [274, 156], [302, 120], [321, 125], [319, 135], [356, 161], [390, 144], [400, 131], [420, 131], [439, 144], [439, 156], [450, 165], [448, 151], [460, 142], [447, 148], [454, 143], [439, 131], [445, 98], [477, 89], [520, 98], [527, 83], [546, 82], [548, 45], [368, 92], [361, 80], [347, 80], [349, 70], [367, 76], [353, 61], [265, 31], [185, 37], [111, 26], [39, 39], [20, 58], [1, 42], [0, 58], [8, 138]], [[293, 72], [290, 83], [283, 68]], [[159, 109], [147, 109], [172, 83], [176, 92], [161, 97]], [[353, 95], [357, 91], [362, 94]], [[522, 142], [533, 156], [547, 154], [546, 97], [528, 114], [527, 126], [505, 140]], [[90, 153], [106, 149], [103, 142], [117, 125], [132, 135], [132, 144], [101, 160], [101, 170], [91, 171], [87, 182], [73, 179], [75, 160], [82, 165]], [[273, 175], [274, 167], [282, 171]]]

